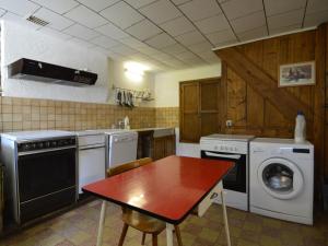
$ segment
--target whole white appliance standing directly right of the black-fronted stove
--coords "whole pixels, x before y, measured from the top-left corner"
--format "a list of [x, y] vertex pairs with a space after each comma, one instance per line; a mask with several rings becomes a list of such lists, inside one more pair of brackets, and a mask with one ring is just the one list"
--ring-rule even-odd
[[78, 134], [78, 184], [82, 187], [104, 179], [106, 176], [106, 136], [99, 131], [79, 131]]

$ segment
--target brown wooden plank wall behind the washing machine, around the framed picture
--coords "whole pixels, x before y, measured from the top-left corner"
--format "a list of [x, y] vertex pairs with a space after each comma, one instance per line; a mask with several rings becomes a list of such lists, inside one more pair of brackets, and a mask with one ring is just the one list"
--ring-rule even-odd
[[[271, 78], [271, 81], [276, 81], [274, 86], [277, 87], [279, 86], [278, 77], [281, 65], [316, 60], [316, 72], [320, 73], [316, 78], [316, 85], [280, 87], [278, 90], [284, 92], [282, 94], [295, 98], [300, 102], [300, 105], [305, 105], [307, 108], [307, 137], [315, 143], [316, 151], [320, 153], [316, 155], [316, 165], [319, 166], [317, 176], [324, 176], [325, 174], [328, 178], [328, 114], [326, 114], [325, 121], [324, 110], [324, 104], [326, 104], [326, 108], [328, 107], [328, 96], [325, 97], [325, 91], [328, 95], [328, 87], [325, 85], [325, 81], [328, 83], [328, 25], [325, 24], [320, 28], [321, 34], [319, 36], [318, 28], [241, 45], [235, 47], [235, 50], [245, 56], [245, 67], [249, 66], [247, 69], [251, 70], [256, 65], [263, 74]], [[323, 35], [326, 35], [325, 44], [323, 44]], [[224, 94], [222, 95], [224, 101], [222, 103], [222, 117], [224, 117], [222, 121], [225, 122], [225, 120], [232, 119], [234, 125], [232, 128], [226, 128], [222, 124], [222, 132], [292, 138], [295, 125], [294, 114], [296, 112], [292, 117], [286, 117], [286, 112], [282, 114], [281, 108], [278, 107], [279, 104], [269, 101], [263, 96], [261, 90], [254, 87], [256, 83], [253, 83], [251, 75], [248, 77], [247, 72], [236, 70], [236, 68], [242, 68], [241, 65], [231, 67], [232, 60], [227, 60], [229, 57], [225, 51], [227, 49], [230, 48], [216, 50], [218, 56], [222, 56], [222, 86], [225, 86], [224, 90], [226, 90], [225, 94], [224, 90], [221, 92]], [[247, 59], [251, 65], [247, 63]], [[325, 70], [326, 78], [323, 72]], [[256, 69], [253, 71], [256, 71]], [[243, 72], [245, 73], [243, 74]], [[261, 86], [260, 83], [258, 85]], [[269, 85], [268, 90], [270, 90]], [[289, 105], [285, 105], [285, 107], [289, 107]], [[326, 112], [328, 113], [328, 108]], [[324, 136], [326, 136], [326, 141], [324, 141]], [[323, 153], [326, 153], [326, 157]]]

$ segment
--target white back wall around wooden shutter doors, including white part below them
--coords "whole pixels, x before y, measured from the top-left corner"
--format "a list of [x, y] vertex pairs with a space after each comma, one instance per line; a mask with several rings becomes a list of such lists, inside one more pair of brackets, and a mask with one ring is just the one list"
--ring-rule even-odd
[[[155, 106], [178, 107], [179, 106], [179, 82], [186, 80], [221, 77], [221, 63], [155, 75]], [[200, 148], [196, 143], [180, 143], [179, 129], [176, 129], [176, 153], [177, 155], [199, 157]]]

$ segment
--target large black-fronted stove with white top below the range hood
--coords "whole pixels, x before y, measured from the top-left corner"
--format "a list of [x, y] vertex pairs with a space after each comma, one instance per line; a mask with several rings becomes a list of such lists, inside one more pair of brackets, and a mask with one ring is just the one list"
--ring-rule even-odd
[[5, 213], [22, 224], [77, 201], [75, 134], [20, 131], [1, 134]]

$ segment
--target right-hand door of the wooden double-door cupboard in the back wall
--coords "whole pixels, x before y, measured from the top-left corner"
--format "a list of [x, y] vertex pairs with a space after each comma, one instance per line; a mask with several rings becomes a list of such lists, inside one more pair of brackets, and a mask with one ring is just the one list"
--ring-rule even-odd
[[220, 79], [200, 82], [200, 137], [220, 132], [219, 90]]

